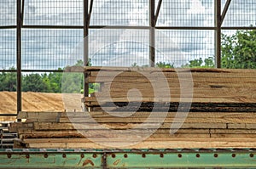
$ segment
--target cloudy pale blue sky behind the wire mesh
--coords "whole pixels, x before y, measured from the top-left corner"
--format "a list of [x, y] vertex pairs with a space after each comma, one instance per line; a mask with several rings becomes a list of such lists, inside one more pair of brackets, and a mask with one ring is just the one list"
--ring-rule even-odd
[[[90, 25], [148, 26], [148, 0], [95, 0], [93, 7]], [[15, 12], [15, 0], [0, 0], [0, 26], [15, 25]], [[26, 0], [24, 25], [83, 25], [83, 1]], [[223, 26], [248, 25], [256, 25], [256, 1], [233, 0]], [[214, 0], [163, 0], [157, 26], [213, 27]], [[15, 32], [0, 29], [0, 69], [15, 66]], [[148, 30], [90, 29], [92, 64], [148, 65], [148, 35]], [[156, 30], [155, 39], [157, 62], [180, 66], [214, 56], [212, 30]], [[22, 29], [22, 69], [73, 65], [83, 59], [81, 46], [83, 30]]]

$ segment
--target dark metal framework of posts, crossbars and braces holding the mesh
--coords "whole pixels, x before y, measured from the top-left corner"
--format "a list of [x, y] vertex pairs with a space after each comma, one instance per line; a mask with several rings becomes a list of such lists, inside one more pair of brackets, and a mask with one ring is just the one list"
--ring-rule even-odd
[[[16, 29], [16, 42], [17, 42], [17, 65], [16, 70], [0, 70], [0, 72], [16, 72], [17, 73], [17, 113], [21, 111], [21, 73], [22, 72], [63, 72], [62, 70], [22, 70], [21, 69], [21, 29], [83, 29], [84, 37], [89, 35], [90, 29], [101, 29], [108, 25], [90, 25], [90, 15], [93, 12], [93, 0], [84, 0], [84, 25], [23, 25], [24, 15], [24, 3], [25, 0], [17, 0], [17, 22], [16, 25], [4, 25], [0, 26], [0, 29]], [[144, 29], [149, 30], [149, 42], [151, 48], [149, 48], [149, 58], [152, 61], [151, 66], [154, 66], [155, 60], [155, 30], [212, 30], [215, 31], [215, 56], [217, 68], [221, 68], [221, 30], [256, 30], [256, 27], [227, 27], [222, 26], [224, 17], [230, 7], [231, 0], [227, 0], [224, 6], [224, 10], [221, 11], [221, 0], [215, 1], [215, 26], [214, 27], [180, 27], [180, 26], [156, 26], [158, 16], [160, 14], [160, 8], [162, 0], [158, 0], [157, 8], [155, 8], [155, 0], [148, 1], [149, 7], [149, 23], [148, 26], [108, 26], [108, 29]], [[156, 9], [156, 11], [155, 11]], [[152, 29], [153, 28], [153, 29]], [[88, 41], [84, 42], [84, 65], [88, 62]], [[88, 84], [84, 84], [84, 88], [88, 88]], [[87, 90], [84, 90], [84, 96], [87, 96]]]

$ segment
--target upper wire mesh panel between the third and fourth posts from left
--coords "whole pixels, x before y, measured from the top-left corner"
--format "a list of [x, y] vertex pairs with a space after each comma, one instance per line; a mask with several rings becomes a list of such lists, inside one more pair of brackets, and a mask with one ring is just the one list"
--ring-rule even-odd
[[163, 1], [157, 25], [214, 26], [214, 2], [214, 0]]

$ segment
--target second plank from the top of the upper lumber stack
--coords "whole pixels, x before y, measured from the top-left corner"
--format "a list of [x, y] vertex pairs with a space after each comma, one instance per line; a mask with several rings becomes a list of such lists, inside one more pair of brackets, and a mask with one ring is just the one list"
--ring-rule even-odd
[[[152, 83], [152, 82], [168, 82], [168, 84], [177, 84], [180, 82], [180, 80], [183, 80], [183, 78], [186, 77], [188, 82], [192, 80], [195, 84], [208, 84], [208, 83], [220, 83], [223, 85], [232, 84], [231, 82], [238, 82], [238, 84], [246, 84], [247, 82], [253, 83], [255, 82], [254, 78], [256, 75], [247, 75], [247, 74], [222, 74], [222, 75], [216, 75], [216, 74], [191, 74], [191, 76], [184, 75], [159, 75], [159, 74], [146, 74], [141, 76], [89, 76], [86, 79], [86, 82], [90, 83], [102, 83], [109, 84], [109, 83], [118, 83], [118, 82], [128, 82], [128, 83]], [[211, 77], [211, 78], [209, 78]], [[240, 80], [240, 81], [239, 81]], [[242, 81], [241, 81], [242, 80]], [[182, 81], [181, 81], [182, 82]], [[234, 84], [237, 86], [236, 84]]]

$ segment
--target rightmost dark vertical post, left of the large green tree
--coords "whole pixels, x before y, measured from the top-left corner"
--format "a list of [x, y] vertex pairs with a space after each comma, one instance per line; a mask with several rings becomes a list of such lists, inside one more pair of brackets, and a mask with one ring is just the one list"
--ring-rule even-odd
[[221, 0], [215, 1], [215, 57], [216, 67], [221, 68]]

